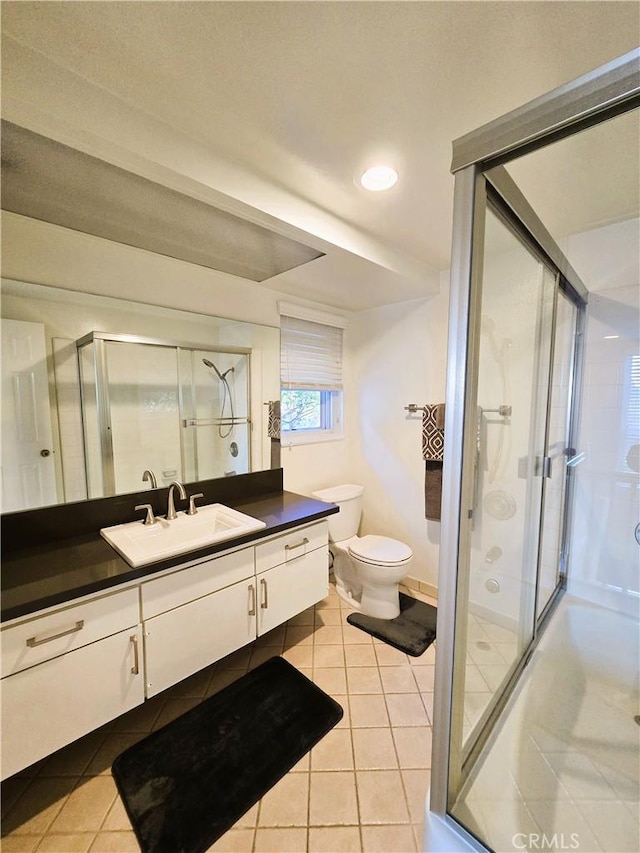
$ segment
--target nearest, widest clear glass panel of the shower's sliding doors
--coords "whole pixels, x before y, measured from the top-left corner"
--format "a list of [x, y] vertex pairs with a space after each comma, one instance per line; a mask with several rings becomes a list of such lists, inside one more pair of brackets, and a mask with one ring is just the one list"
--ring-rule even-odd
[[554, 289], [554, 273], [488, 209], [469, 578], [458, 601], [463, 756], [533, 637]]

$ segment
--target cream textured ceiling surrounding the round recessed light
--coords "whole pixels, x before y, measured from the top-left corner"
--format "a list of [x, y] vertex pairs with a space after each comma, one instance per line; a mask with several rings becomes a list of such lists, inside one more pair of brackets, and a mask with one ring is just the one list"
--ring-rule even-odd
[[[449, 264], [452, 140], [633, 49], [640, 7], [582, 0], [5, 2], [2, 26], [10, 96], [26, 86], [14, 57], [28, 49], [123, 110], [135, 107], [220, 163], [241, 166], [288, 197], [290, 210], [304, 202], [334, 217], [336, 233], [340, 224], [358, 229], [434, 273]], [[73, 98], [72, 87], [65, 94]], [[80, 125], [84, 119], [77, 116]], [[597, 194], [585, 180], [598, 168], [593, 147], [579, 152], [584, 159], [558, 154], [553, 170], [538, 173], [540, 195], [548, 186], [553, 197], [551, 182], [571, 176], [580, 201], [548, 204], [552, 230], [626, 216], [629, 193], [619, 190], [635, 179], [636, 153], [632, 146], [616, 155], [620, 180], [599, 179]], [[356, 177], [377, 160], [396, 165], [400, 181], [370, 194]], [[602, 174], [609, 166], [605, 160]], [[419, 286], [399, 288], [388, 301], [420, 293]], [[322, 300], [317, 285], [305, 295]], [[381, 298], [376, 292], [369, 304]], [[366, 297], [357, 307], [367, 307]]]

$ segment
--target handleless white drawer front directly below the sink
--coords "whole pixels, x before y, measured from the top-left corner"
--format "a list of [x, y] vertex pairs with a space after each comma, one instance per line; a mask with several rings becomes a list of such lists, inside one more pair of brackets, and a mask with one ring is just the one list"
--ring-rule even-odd
[[243, 548], [147, 581], [142, 584], [142, 618], [166, 613], [253, 574], [253, 548]]

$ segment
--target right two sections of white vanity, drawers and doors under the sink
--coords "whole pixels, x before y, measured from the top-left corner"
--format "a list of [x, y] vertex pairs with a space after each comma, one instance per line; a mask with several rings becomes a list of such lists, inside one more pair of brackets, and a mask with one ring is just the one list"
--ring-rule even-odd
[[144, 582], [147, 697], [323, 599], [327, 548], [322, 521]]

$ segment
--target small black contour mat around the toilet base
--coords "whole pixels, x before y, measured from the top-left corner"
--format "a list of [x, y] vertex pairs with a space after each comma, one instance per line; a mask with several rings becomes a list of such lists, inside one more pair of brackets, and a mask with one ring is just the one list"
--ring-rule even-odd
[[431, 604], [401, 592], [400, 615], [395, 619], [375, 619], [362, 613], [350, 613], [347, 622], [401, 652], [419, 657], [436, 638], [437, 612]]

